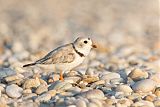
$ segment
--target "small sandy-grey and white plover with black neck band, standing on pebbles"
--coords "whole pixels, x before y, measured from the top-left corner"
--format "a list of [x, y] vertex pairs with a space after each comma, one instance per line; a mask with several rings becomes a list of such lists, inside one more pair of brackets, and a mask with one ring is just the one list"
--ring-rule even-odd
[[74, 42], [62, 45], [46, 54], [41, 59], [23, 65], [23, 67], [37, 64], [54, 64], [60, 71], [59, 80], [63, 80], [63, 73], [70, 71], [83, 63], [92, 48], [97, 48], [89, 37], [78, 37]]

